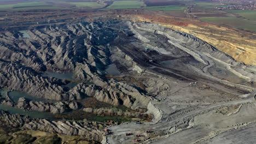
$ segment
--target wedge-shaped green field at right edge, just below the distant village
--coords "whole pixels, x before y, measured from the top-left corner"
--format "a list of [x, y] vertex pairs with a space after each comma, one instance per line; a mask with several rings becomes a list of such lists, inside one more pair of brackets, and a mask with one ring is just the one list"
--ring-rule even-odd
[[225, 11], [240, 15], [242, 17], [245, 17], [248, 20], [256, 21], [256, 10], [225, 10]]

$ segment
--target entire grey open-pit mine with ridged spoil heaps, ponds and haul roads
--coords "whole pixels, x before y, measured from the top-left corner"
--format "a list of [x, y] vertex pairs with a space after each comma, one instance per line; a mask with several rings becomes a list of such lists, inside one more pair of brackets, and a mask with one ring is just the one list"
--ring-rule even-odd
[[256, 142], [255, 65], [159, 23], [56, 13], [0, 20], [0, 143]]

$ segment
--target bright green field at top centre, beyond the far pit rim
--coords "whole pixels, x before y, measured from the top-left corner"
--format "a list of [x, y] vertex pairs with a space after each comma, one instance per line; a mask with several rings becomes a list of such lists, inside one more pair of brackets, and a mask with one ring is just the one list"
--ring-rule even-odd
[[107, 9], [138, 9], [142, 4], [139, 1], [114, 1]]

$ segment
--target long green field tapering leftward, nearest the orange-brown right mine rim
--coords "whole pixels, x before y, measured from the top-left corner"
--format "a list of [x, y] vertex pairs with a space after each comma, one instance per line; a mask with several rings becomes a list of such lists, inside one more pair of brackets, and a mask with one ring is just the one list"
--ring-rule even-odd
[[256, 22], [237, 17], [201, 17], [202, 21], [216, 23], [217, 25], [230, 26], [256, 32]]

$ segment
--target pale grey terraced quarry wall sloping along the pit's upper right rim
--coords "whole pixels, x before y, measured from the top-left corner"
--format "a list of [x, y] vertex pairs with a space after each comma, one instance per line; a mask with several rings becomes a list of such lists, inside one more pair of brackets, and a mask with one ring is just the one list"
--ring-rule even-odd
[[150, 33], [165, 35], [165, 37], [168, 38], [168, 43], [176, 46], [182, 51], [189, 53], [197, 61], [205, 64], [206, 66], [203, 69], [204, 72], [206, 72], [208, 68], [212, 67], [214, 63], [218, 62], [223, 64], [227, 70], [237, 75], [241, 79], [245, 79], [247, 82], [256, 81], [255, 74], [252, 73], [252, 65], [245, 65], [243, 63], [236, 62], [234, 58], [226, 55], [222, 51], [217, 50], [215, 47], [206, 43], [205, 41], [196, 38], [194, 35], [185, 32], [176, 32], [170, 28], [149, 22], [128, 23], [128, 25], [130, 25], [132, 31], [137, 35], [135, 35], [135, 37], [141, 39], [144, 43], [149, 43], [149, 40], [144, 41], [144, 39], [147, 38], [143, 37], [142, 39], [141, 34], [139, 34], [135, 28]]

